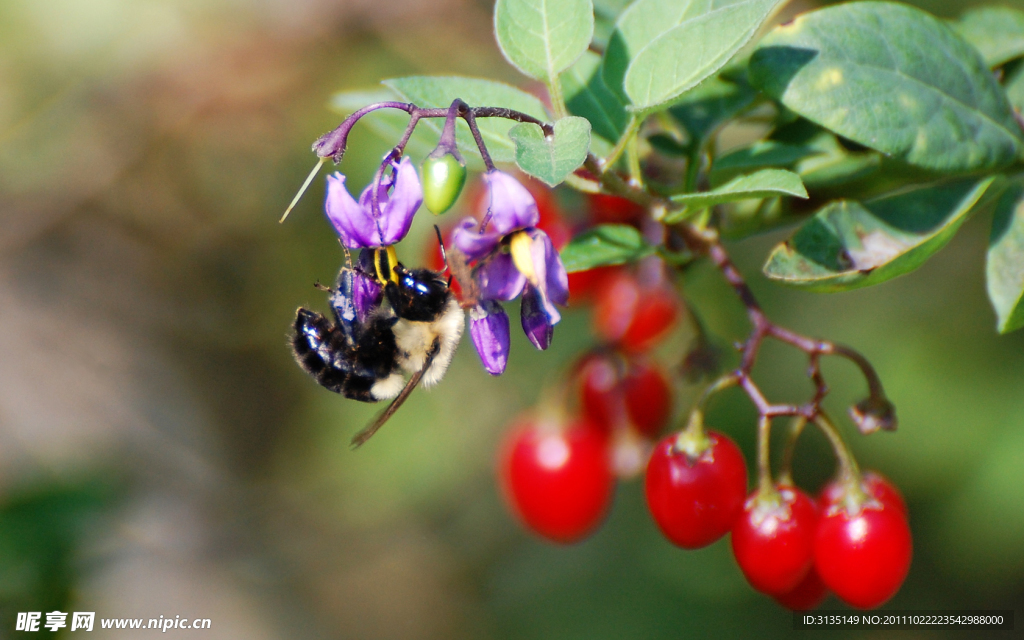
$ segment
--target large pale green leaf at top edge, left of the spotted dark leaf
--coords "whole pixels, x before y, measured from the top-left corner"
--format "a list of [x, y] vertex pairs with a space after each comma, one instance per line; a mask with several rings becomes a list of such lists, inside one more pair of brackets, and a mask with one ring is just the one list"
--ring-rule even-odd
[[722, 69], [779, 2], [638, 0], [612, 35], [606, 80], [617, 88], [616, 72], [628, 60], [621, 86], [633, 108], [646, 112], [669, 102]]

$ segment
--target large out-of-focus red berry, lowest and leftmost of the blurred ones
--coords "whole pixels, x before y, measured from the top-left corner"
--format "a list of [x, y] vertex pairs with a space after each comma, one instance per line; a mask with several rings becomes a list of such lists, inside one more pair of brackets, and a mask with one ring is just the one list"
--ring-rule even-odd
[[611, 503], [607, 435], [586, 420], [564, 429], [528, 421], [506, 438], [501, 475], [522, 522], [558, 543], [593, 531]]

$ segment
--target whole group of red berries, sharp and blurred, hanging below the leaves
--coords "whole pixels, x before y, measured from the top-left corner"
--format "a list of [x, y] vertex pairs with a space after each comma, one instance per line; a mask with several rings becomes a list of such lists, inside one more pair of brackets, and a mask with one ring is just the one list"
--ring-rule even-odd
[[[544, 204], [542, 217], [557, 228], [557, 209]], [[617, 204], [604, 203], [608, 215], [631, 215]], [[600, 345], [572, 370], [578, 410], [520, 418], [510, 430], [500, 470], [512, 510], [548, 540], [578, 542], [603, 521], [615, 477], [645, 470], [649, 511], [670, 542], [698, 549], [731, 534], [748, 582], [781, 605], [813, 608], [829, 592], [860, 608], [886, 602], [909, 569], [906, 506], [881, 475], [860, 474], [845, 449], [837, 452], [840, 479], [813, 499], [788, 479], [772, 481], [767, 456], [759, 460], [758, 488], [748, 494], [743, 455], [728, 436], [703, 428], [700, 408], [683, 431], [657, 440], [674, 393], [651, 351], [685, 310], [664, 273], [655, 260], [570, 281], [572, 297], [593, 303]]]

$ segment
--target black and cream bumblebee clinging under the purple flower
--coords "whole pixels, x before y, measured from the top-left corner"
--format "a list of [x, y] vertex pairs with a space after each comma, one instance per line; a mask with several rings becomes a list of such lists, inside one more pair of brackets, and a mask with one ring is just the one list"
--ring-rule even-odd
[[[394, 398], [352, 438], [353, 446], [370, 439], [417, 385], [430, 387], [444, 377], [464, 324], [442, 273], [407, 269], [391, 248], [365, 256], [372, 258], [374, 273], [365, 270], [366, 259], [356, 267], [346, 260], [334, 289], [324, 288], [331, 293], [333, 322], [300, 307], [292, 335], [295, 359], [322, 386], [362, 402]], [[356, 304], [360, 278], [384, 283], [383, 295], [369, 309]]]

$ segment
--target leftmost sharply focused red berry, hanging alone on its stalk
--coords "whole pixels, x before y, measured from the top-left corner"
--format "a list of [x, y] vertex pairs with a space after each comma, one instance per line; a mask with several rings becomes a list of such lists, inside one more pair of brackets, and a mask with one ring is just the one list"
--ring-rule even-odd
[[746, 463], [721, 433], [708, 431], [710, 446], [695, 458], [677, 450], [678, 436], [663, 438], [647, 463], [647, 507], [673, 544], [699, 549], [724, 536], [742, 512]]

